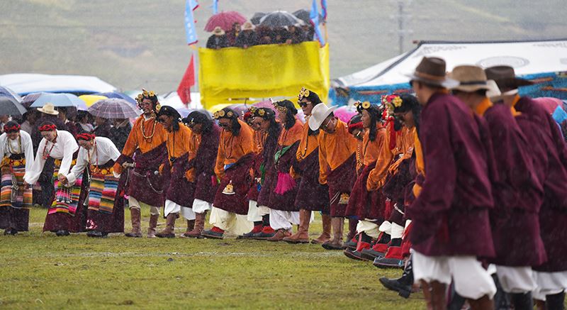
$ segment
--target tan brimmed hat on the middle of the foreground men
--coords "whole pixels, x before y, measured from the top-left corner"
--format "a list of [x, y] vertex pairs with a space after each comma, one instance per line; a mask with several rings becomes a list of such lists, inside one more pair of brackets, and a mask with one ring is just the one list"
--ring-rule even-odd
[[483, 68], [473, 65], [461, 65], [453, 68], [448, 76], [456, 80], [459, 84], [451, 89], [461, 92], [476, 92], [485, 89], [490, 94], [495, 94], [500, 90], [493, 80], [486, 78]]

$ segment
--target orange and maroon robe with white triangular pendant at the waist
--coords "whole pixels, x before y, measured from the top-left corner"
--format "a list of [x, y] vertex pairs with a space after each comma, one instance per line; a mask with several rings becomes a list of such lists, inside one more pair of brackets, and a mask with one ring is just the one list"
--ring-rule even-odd
[[247, 193], [252, 186], [252, 129], [238, 120], [240, 133], [220, 133], [215, 174], [220, 179], [213, 206], [234, 214], [248, 213]]

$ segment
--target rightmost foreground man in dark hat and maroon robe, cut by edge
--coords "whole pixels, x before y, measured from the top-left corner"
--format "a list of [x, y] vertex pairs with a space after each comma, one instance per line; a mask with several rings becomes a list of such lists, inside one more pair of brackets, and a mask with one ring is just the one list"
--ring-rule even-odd
[[514, 69], [507, 66], [490, 67], [486, 75], [498, 84], [502, 92], [498, 99], [520, 113], [516, 120], [532, 146], [535, 172], [544, 187], [539, 228], [547, 261], [533, 267], [537, 284], [534, 299], [545, 301], [546, 309], [563, 309], [567, 288], [567, 226], [563, 224], [567, 223], [567, 148], [551, 115], [537, 102], [517, 94], [519, 87], [532, 82], [515, 77]]

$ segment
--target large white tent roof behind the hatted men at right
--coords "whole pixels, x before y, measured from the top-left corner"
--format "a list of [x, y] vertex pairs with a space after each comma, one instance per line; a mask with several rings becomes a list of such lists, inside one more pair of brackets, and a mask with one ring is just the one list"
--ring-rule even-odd
[[422, 41], [414, 50], [398, 55], [365, 70], [340, 77], [335, 87], [378, 87], [408, 82], [422, 57], [442, 57], [447, 71], [458, 65], [492, 67], [510, 65], [516, 74], [567, 71], [567, 40], [445, 42]]

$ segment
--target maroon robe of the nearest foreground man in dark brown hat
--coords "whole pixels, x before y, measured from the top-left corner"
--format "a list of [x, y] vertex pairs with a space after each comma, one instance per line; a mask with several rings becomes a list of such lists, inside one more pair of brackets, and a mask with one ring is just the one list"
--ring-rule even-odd
[[406, 209], [413, 248], [427, 256], [493, 256], [488, 155], [476, 119], [459, 99], [436, 93], [420, 124], [427, 177]]

